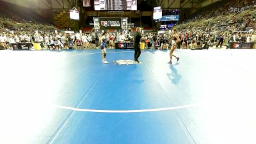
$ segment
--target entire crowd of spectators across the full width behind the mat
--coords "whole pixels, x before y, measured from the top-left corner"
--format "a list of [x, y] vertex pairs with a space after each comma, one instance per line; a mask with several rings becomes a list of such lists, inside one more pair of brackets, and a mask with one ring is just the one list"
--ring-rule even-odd
[[[197, 49], [213, 45], [222, 47], [227, 46], [228, 42], [255, 43], [255, 4], [253, 0], [228, 1], [223, 6], [185, 20], [175, 26], [180, 37], [178, 49]], [[244, 8], [248, 11], [234, 13], [231, 8]], [[141, 42], [145, 43], [145, 49], [168, 49], [169, 34], [145, 32]], [[95, 49], [99, 47], [101, 37], [100, 33], [93, 32], [82, 34], [56, 31], [49, 24], [40, 24], [13, 15], [0, 15], [0, 35], [2, 49], [12, 49], [12, 44], [19, 42], [38, 42], [43, 49]], [[133, 33], [109, 32], [106, 38], [107, 47], [113, 49], [115, 42], [133, 42]]]

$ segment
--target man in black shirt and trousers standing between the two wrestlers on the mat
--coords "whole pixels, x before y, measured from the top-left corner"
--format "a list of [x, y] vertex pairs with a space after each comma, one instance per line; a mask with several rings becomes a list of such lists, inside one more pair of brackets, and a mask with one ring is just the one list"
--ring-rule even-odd
[[133, 46], [134, 46], [134, 61], [139, 63], [138, 58], [140, 57], [141, 50], [140, 50], [140, 38], [141, 38], [141, 28], [138, 27], [136, 28], [136, 33], [134, 33], [134, 41], [133, 41]]

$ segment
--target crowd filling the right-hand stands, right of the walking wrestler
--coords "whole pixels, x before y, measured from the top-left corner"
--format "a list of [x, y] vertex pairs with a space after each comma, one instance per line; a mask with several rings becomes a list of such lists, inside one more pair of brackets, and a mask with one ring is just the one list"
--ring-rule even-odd
[[191, 19], [184, 20], [175, 26], [182, 40], [179, 47], [196, 49], [204, 45], [228, 47], [228, 42], [255, 43], [255, 4], [252, 0], [228, 1], [223, 6], [213, 7], [211, 10], [194, 15]]

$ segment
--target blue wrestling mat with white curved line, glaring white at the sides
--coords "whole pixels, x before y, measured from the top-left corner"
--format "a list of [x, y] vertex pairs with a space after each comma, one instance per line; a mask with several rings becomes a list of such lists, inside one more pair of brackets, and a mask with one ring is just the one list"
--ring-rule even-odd
[[255, 53], [1, 51], [0, 143], [255, 143]]

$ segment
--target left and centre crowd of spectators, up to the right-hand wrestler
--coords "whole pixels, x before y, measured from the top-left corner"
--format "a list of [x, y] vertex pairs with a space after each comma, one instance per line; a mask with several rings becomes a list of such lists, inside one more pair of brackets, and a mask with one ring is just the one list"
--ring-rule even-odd
[[[20, 17], [0, 15], [0, 47], [12, 49], [12, 44], [40, 43], [42, 49], [95, 49], [100, 45], [100, 33], [67, 33]], [[143, 33], [146, 48], [167, 44], [166, 35]], [[113, 49], [116, 42], [133, 42], [133, 33], [109, 32], [107, 47]], [[154, 42], [154, 43], [153, 43]]]

